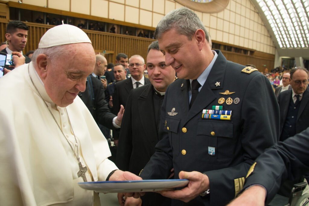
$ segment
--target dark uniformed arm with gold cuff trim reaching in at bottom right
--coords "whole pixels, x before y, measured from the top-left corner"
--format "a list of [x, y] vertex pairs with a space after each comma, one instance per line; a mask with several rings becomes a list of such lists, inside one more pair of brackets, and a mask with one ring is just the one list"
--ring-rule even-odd
[[308, 151], [309, 128], [277, 142], [256, 159], [248, 171], [243, 193], [228, 206], [268, 205], [282, 180], [293, 180], [309, 171]]

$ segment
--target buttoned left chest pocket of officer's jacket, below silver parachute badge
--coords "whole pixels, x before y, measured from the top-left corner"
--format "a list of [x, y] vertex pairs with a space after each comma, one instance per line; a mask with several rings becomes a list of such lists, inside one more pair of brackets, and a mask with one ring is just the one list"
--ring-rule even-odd
[[168, 131], [168, 138], [170, 141], [170, 145], [173, 151], [173, 156], [179, 155], [179, 136], [178, 136], [178, 127], [179, 127], [180, 119], [177, 118], [166, 118], [166, 127], [165, 129]]

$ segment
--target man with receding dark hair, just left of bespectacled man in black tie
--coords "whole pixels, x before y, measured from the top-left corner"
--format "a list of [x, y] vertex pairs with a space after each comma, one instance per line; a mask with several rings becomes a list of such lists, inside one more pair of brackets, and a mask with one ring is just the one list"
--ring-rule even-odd
[[[107, 88], [105, 90], [105, 101], [107, 101], [110, 105], [110, 108], [113, 107], [112, 105], [112, 96], [114, 94], [114, 90], [115, 90], [115, 83], [125, 80], [126, 79], [126, 74], [127, 71], [125, 70], [125, 66], [123, 64], [116, 64], [114, 66], [114, 76], [116, 81], [110, 83], [107, 85]], [[111, 100], [111, 102], [109, 102], [109, 100]]]

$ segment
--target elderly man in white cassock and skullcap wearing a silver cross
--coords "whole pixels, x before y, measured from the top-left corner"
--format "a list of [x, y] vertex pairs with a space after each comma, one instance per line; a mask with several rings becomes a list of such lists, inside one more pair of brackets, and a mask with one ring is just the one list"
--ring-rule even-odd
[[31, 63], [0, 78], [1, 204], [93, 205], [97, 194], [78, 182], [141, 179], [107, 159], [108, 143], [77, 97], [94, 67], [88, 36], [63, 24], [42, 36]]

